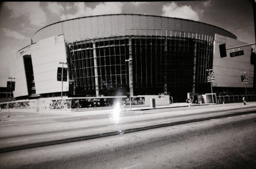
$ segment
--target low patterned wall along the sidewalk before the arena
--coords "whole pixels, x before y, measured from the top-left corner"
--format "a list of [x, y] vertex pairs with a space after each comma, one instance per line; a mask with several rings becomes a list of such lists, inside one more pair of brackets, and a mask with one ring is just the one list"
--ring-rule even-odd
[[[169, 105], [168, 95], [143, 95], [131, 97], [131, 105], [150, 106], [154, 98], [156, 105]], [[90, 98], [40, 98], [0, 103], [2, 109], [33, 109], [34, 111], [72, 110], [82, 108], [112, 107], [115, 104], [130, 105], [126, 96], [103, 96]]]

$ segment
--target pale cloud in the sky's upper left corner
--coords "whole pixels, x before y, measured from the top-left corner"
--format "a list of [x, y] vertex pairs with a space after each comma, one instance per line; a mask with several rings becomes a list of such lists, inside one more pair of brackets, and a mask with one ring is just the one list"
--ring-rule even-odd
[[6, 2], [5, 6], [11, 10], [10, 18], [26, 16], [35, 26], [44, 26], [47, 17], [40, 7], [40, 2]]

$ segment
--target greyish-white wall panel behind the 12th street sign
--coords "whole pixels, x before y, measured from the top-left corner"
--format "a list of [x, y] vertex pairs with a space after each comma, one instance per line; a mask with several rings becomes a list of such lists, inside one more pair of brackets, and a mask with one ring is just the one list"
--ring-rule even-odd
[[[214, 41], [214, 53], [213, 53], [213, 71], [215, 81], [213, 86], [216, 87], [245, 87], [245, 84], [241, 82], [241, 72], [247, 72], [249, 76], [250, 69], [253, 69], [253, 66], [250, 65], [250, 46], [241, 47], [240, 50], [243, 50], [244, 55], [230, 57], [230, 52], [233, 52], [233, 49], [226, 50], [226, 57], [220, 57], [220, 44], [226, 43], [226, 48], [237, 47], [239, 45], [245, 45], [242, 41], [231, 39], [229, 37], [215, 36]], [[235, 48], [234, 51], [238, 51], [238, 48]], [[253, 78], [253, 74], [249, 76], [249, 79]], [[253, 83], [246, 84], [247, 87], [253, 87]]]

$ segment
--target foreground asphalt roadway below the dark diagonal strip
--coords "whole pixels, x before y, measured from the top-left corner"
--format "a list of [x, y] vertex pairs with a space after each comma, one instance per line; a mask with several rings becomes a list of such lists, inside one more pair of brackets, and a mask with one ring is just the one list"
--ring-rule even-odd
[[1, 168], [255, 168], [256, 114], [0, 154]]

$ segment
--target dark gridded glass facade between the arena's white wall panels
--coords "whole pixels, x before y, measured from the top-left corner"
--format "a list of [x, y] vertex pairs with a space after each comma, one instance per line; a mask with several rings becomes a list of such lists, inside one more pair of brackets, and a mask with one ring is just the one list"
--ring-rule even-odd
[[96, 88], [99, 95], [126, 95], [129, 68], [125, 60], [129, 59], [129, 49], [133, 58], [134, 95], [168, 91], [176, 99], [184, 99], [187, 92], [206, 87], [206, 70], [212, 67], [212, 39], [201, 40], [179, 33], [112, 36], [68, 43], [69, 77], [76, 80], [76, 95], [94, 96]]

